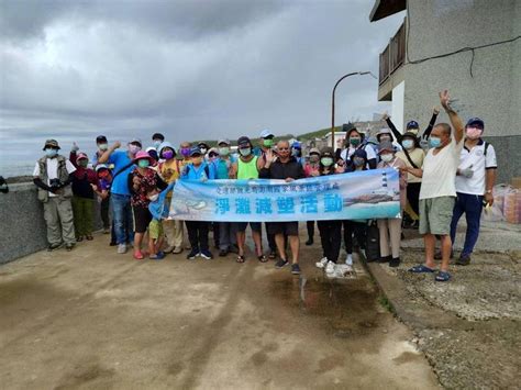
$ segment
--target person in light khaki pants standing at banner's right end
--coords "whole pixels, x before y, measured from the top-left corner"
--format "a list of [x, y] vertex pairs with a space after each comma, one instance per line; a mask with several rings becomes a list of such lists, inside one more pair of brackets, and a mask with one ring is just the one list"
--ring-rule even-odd
[[[380, 155], [378, 169], [399, 170], [400, 208], [403, 212], [407, 202], [407, 174], [403, 171], [403, 168], [407, 167], [406, 163], [395, 156], [395, 146], [389, 141], [380, 142], [378, 154]], [[400, 265], [401, 219], [381, 219], [377, 223], [380, 232], [380, 259], [378, 263], [389, 263], [389, 267], [398, 267]]]

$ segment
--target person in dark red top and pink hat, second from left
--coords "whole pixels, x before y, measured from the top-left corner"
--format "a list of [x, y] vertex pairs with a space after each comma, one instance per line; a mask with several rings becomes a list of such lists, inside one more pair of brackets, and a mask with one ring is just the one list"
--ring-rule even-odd
[[69, 160], [76, 167], [73, 174], [73, 213], [76, 230], [76, 242], [92, 239], [92, 214], [95, 192], [98, 190], [98, 178], [88, 167], [89, 158], [85, 153], [77, 153], [76, 143], [70, 151]]

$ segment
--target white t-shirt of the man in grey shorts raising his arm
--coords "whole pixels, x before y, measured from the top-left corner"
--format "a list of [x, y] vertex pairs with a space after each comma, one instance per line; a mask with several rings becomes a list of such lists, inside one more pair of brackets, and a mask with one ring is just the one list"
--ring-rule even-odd
[[423, 159], [420, 199], [456, 196], [455, 177], [463, 144], [463, 138], [457, 144], [451, 138], [451, 143], [436, 155], [433, 154], [435, 148], [429, 149]]

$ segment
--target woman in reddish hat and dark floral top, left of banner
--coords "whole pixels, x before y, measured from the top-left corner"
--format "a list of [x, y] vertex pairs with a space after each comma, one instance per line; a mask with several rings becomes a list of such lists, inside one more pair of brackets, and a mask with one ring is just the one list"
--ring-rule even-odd
[[152, 214], [148, 210], [151, 200], [147, 194], [155, 188], [165, 189], [167, 185], [152, 168], [154, 159], [146, 152], [137, 152], [132, 163], [134, 168], [128, 176], [128, 182], [134, 216], [134, 258], [142, 260], [144, 255], [141, 252], [141, 245], [146, 229], [152, 221]]

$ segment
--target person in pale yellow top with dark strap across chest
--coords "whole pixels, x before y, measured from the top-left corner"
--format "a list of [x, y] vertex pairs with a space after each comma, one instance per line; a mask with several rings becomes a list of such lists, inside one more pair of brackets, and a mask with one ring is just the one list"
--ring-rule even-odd
[[[420, 143], [414, 133], [404, 133], [401, 136], [403, 149], [397, 152], [396, 156], [401, 159], [407, 167], [418, 169], [423, 165], [425, 152], [420, 147]], [[418, 227], [420, 215], [420, 188], [421, 178], [412, 174], [407, 174], [407, 201], [412, 210], [410, 218], [413, 221], [411, 227]], [[406, 209], [407, 210], [407, 209]]]

